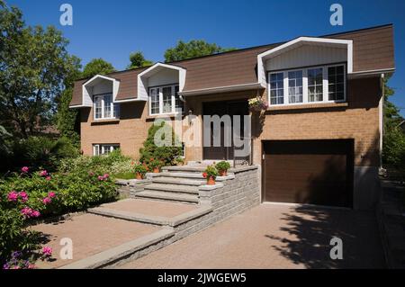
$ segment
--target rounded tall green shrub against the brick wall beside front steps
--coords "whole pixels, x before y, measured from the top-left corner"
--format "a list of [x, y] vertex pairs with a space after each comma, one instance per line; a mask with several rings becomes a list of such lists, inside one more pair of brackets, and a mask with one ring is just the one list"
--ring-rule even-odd
[[[167, 139], [168, 146], [157, 147], [155, 143], [155, 136], [158, 130], [163, 129], [166, 133], [162, 133], [162, 140], [165, 140], [165, 134], [171, 134], [171, 139]], [[148, 130], [148, 138], [143, 143], [143, 148], [139, 149], [140, 158], [142, 163], [147, 165], [152, 158], [161, 160], [163, 166], [175, 166], [175, 159], [182, 154], [182, 147], [179, 140], [175, 135], [175, 131], [162, 121], [159, 125], [152, 125]]]

